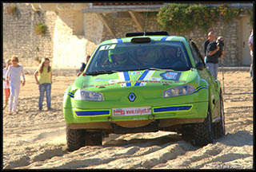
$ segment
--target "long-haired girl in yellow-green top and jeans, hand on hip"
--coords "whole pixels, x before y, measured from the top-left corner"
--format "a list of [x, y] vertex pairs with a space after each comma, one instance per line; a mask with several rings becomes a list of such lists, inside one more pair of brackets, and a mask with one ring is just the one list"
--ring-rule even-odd
[[[39, 79], [38, 79], [39, 76]], [[46, 92], [46, 103], [48, 110], [52, 110], [50, 108], [51, 104], [51, 84], [52, 82], [52, 68], [50, 67], [50, 59], [49, 58], [43, 58], [41, 65], [39, 68], [34, 72], [34, 79], [36, 81], [36, 84], [38, 84], [39, 87], [39, 101], [38, 101], [38, 107], [39, 111], [42, 111], [42, 101], [44, 99], [44, 95]]]

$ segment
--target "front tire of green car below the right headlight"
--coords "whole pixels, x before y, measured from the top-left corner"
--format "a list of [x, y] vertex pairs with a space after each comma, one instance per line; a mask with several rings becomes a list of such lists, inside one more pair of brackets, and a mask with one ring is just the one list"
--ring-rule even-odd
[[208, 143], [213, 143], [212, 121], [209, 107], [205, 121], [203, 123], [194, 123], [193, 131], [194, 134], [190, 140], [193, 146], [203, 147]]

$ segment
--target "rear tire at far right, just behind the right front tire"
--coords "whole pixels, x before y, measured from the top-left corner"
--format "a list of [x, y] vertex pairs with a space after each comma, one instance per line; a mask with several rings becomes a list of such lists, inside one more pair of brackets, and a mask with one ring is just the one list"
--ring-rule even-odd
[[217, 123], [213, 124], [213, 131], [214, 131], [214, 139], [219, 139], [222, 136], [225, 135], [226, 129], [225, 129], [225, 114], [224, 114], [224, 105], [223, 105], [223, 99], [222, 95], [219, 96], [220, 99], [220, 117], [221, 120]]

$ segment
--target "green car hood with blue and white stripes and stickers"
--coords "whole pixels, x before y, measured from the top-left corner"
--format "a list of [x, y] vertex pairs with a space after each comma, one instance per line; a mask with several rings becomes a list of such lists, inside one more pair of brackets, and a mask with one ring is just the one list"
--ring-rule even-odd
[[158, 71], [140, 70], [114, 72], [98, 76], [79, 76], [76, 88], [93, 92], [122, 92], [126, 90], [156, 91], [190, 83], [198, 76], [196, 70]]

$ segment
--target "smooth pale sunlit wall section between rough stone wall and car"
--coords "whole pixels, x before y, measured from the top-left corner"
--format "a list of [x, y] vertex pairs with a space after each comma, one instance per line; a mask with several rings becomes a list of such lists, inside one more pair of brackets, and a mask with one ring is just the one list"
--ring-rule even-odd
[[55, 68], [78, 68], [86, 57], [86, 38], [74, 34], [74, 10], [59, 10], [54, 27]]

